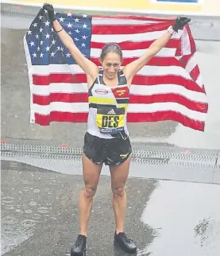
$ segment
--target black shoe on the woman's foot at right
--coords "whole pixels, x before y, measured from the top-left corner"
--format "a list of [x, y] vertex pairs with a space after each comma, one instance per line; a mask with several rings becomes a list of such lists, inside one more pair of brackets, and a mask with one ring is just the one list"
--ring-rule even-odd
[[133, 253], [137, 250], [136, 244], [133, 240], [128, 239], [124, 232], [114, 234], [114, 244], [122, 248], [126, 253]]

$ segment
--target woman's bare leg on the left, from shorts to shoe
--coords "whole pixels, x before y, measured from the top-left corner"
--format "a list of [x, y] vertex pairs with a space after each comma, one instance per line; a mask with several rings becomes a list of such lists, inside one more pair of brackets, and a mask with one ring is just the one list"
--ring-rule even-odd
[[87, 236], [87, 225], [101, 170], [102, 165], [95, 165], [83, 153], [83, 180], [85, 186], [79, 196], [79, 235]]

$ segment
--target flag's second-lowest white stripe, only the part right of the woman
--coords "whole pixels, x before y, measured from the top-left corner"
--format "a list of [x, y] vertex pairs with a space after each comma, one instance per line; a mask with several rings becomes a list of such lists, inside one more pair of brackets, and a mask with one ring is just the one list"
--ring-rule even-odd
[[207, 102], [206, 95], [203, 92], [191, 91], [177, 84], [160, 84], [151, 86], [134, 85], [130, 88], [130, 94], [133, 95], [157, 95], [170, 93], [182, 95], [187, 99], [191, 99], [192, 101], [199, 103]]

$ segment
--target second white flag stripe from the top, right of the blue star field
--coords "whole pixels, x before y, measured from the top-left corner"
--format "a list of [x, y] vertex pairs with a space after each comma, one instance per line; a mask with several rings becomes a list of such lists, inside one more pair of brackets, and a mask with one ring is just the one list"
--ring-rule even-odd
[[[92, 34], [91, 41], [92, 42], [101, 42], [101, 43], [109, 43], [114, 41], [115, 43], [121, 43], [123, 41], [133, 41], [133, 42], [142, 42], [142, 41], [153, 41], [159, 37], [162, 37], [167, 30], [162, 31], [153, 31], [147, 33], [133, 33], [133, 34], [112, 34], [112, 35], [99, 35]], [[183, 33], [183, 30], [179, 30], [178, 33], [174, 34], [172, 38], [179, 39]]]

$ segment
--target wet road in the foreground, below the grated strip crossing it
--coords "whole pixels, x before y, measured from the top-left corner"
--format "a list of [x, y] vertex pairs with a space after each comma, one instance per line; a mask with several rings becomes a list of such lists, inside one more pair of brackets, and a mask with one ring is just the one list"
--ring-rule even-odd
[[[2, 254], [70, 255], [82, 176], [3, 161], [2, 180]], [[137, 242], [137, 255], [219, 255], [219, 184], [129, 177], [126, 192], [125, 231]], [[113, 238], [110, 177], [101, 176], [87, 255], [126, 255]]]

